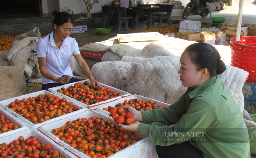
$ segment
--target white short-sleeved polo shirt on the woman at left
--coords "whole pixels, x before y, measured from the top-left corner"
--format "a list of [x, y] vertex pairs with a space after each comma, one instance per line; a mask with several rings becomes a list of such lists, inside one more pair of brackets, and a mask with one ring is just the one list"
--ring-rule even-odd
[[[53, 39], [53, 32], [38, 40], [36, 54], [38, 57], [46, 58], [46, 69], [56, 77], [62, 75], [69, 75], [70, 78], [75, 77], [69, 62], [72, 55], [80, 54], [76, 39], [68, 36], [58, 48]], [[42, 75], [42, 84], [47, 83], [57, 82]]]

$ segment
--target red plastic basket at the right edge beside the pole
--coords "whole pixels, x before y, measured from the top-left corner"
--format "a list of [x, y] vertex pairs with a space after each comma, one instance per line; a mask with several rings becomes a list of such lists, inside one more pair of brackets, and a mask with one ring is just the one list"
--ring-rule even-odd
[[235, 36], [230, 39], [231, 65], [249, 72], [247, 81], [256, 82], [256, 36]]

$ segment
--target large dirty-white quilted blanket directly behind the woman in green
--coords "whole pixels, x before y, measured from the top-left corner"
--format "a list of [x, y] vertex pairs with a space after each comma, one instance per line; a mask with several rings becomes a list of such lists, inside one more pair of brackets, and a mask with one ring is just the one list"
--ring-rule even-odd
[[[173, 104], [187, 89], [182, 86], [178, 74], [180, 69], [178, 57], [156, 56], [147, 59], [123, 57], [122, 60], [99, 62], [93, 65], [91, 71], [94, 78], [129, 93], [168, 104]], [[219, 75], [241, 112], [244, 109], [242, 88], [247, 76], [248, 72], [228, 65], [227, 70]]]

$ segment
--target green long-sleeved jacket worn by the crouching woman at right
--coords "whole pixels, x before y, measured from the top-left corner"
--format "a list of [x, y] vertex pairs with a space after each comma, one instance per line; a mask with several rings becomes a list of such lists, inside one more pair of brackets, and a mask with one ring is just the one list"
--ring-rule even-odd
[[[154, 145], [190, 142], [204, 157], [249, 158], [249, 135], [243, 114], [218, 76], [188, 88], [173, 105], [141, 111], [138, 132]], [[173, 125], [174, 126], [165, 126]]]

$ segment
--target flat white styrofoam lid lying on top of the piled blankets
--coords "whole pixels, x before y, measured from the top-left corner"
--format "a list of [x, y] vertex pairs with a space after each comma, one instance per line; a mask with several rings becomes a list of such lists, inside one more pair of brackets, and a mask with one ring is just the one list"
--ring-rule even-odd
[[141, 32], [141, 33], [127, 33], [117, 34], [119, 42], [137, 42], [163, 39], [164, 35], [158, 32]]

